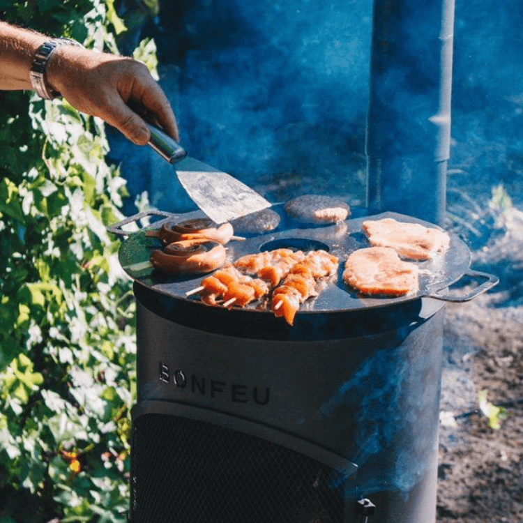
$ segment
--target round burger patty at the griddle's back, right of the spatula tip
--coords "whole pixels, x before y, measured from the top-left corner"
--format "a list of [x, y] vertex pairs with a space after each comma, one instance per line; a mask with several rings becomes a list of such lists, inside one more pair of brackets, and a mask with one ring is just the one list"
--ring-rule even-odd
[[298, 222], [327, 225], [346, 220], [351, 208], [340, 198], [304, 195], [287, 202], [285, 211]]

